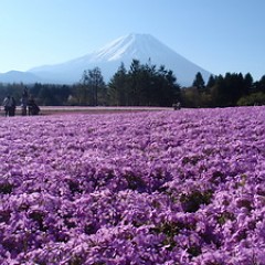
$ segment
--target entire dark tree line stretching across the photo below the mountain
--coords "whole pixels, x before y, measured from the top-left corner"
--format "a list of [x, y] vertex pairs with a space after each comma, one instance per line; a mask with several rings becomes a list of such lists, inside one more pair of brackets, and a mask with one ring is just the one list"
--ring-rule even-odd
[[[11, 94], [17, 103], [25, 85], [0, 84], [0, 99]], [[106, 84], [99, 67], [85, 70], [73, 85], [26, 85], [41, 106], [165, 106], [180, 102], [184, 107], [229, 107], [265, 104], [265, 75], [254, 82], [250, 73], [211, 75], [204, 81], [200, 72], [190, 87], [181, 87], [171, 70], [163, 65], [124, 63]]]

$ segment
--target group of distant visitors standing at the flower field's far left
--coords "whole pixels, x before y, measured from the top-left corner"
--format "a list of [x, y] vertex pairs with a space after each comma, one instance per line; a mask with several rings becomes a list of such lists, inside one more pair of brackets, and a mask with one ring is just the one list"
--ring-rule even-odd
[[[35, 103], [32, 95], [29, 95], [29, 92], [26, 88], [24, 88], [22, 93], [22, 97], [20, 99], [21, 103], [21, 115], [39, 115], [40, 114], [40, 107]], [[17, 102], [13, 96], [8, 95], [2, 103], [4, 116], [11, 117], [15, 115], [17, 110]]]

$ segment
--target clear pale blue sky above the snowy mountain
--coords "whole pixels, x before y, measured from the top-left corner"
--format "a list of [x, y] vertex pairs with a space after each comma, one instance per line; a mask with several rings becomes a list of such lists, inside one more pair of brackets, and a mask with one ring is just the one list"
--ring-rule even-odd
[[0, 0], [0, 73], [149, 33], [213, 74], [265, 75], [264, 0]]

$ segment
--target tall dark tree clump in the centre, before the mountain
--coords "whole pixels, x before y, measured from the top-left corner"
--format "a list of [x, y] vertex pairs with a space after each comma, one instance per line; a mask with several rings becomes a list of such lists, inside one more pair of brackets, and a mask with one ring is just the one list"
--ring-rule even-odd
[[173, 72], [149, 61], [132, 60], [127, 72], [121, 64], [109, 82], [109, 99], [114, 105], [172, 106], [180, 100], [180, 86]]

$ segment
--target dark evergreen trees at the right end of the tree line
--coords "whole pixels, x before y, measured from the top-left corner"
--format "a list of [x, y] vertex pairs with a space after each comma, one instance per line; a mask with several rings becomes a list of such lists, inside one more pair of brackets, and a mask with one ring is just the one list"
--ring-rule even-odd
[[187, 107], [232, 107], [265, 104], [265, 75], [254, 82], [250, 73], [211, 75], [208, 83], [201, 73], [195, 75], [191, 87], [181, 91]]

